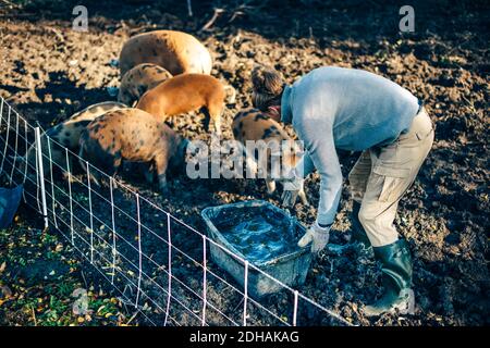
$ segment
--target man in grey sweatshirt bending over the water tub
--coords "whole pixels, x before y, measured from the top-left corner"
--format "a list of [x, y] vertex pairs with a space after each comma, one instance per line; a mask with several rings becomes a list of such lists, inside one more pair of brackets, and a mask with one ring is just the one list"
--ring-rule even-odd
[[329, 240], [342, 188], [336, 149], [362, 151], [348, 175], [353, 240], [372, 247], [382, 264], [383, 295], [366, 315], [408, 311], [414, 301], [412, 259], [393, 221], [399, 201], [415, 181], [430, 151], [433, 127], [421, 102], [408, 90], [372, 73], [319, 67], [287, 86], [273, 69], [253, 72], [254, 105], [291, 123], [306, 154], [284, 184], [284, 204], [295, 203], [306, 175], [320, 174], [316, 222], [299, 240], [311, 251]]

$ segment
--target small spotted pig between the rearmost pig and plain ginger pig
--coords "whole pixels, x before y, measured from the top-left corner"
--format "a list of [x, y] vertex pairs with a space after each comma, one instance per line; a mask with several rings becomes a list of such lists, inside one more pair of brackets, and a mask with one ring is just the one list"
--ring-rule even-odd
[[124, 74], [119, 87], [118, 100], [128, 107], [134, 107], [148, 89], [171, 77], [172, 74], [159, 65], [138, 64]]

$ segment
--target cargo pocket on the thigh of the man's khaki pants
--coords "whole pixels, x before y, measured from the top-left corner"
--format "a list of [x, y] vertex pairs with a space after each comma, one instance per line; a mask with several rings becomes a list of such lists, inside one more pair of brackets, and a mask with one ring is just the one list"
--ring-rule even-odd
[[375, 166], [373, 173], [382, 177], [382, 188], [378, 201], [394, 202], [399, 200], [409, 185], [411, 170], [407, 167]]

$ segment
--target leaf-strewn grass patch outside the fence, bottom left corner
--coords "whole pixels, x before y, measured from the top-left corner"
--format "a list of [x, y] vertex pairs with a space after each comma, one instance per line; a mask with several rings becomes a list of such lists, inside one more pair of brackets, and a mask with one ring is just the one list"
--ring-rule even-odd
[[[0, 229], [0, 325], [95, 326], [128, 321], [118, 298], [85, 285], [81, 262], [56, 231], [33, 228], [17, 215], [10, 228]], [[74, 311], [77, 289], [87, 299], [83, 312]]]

